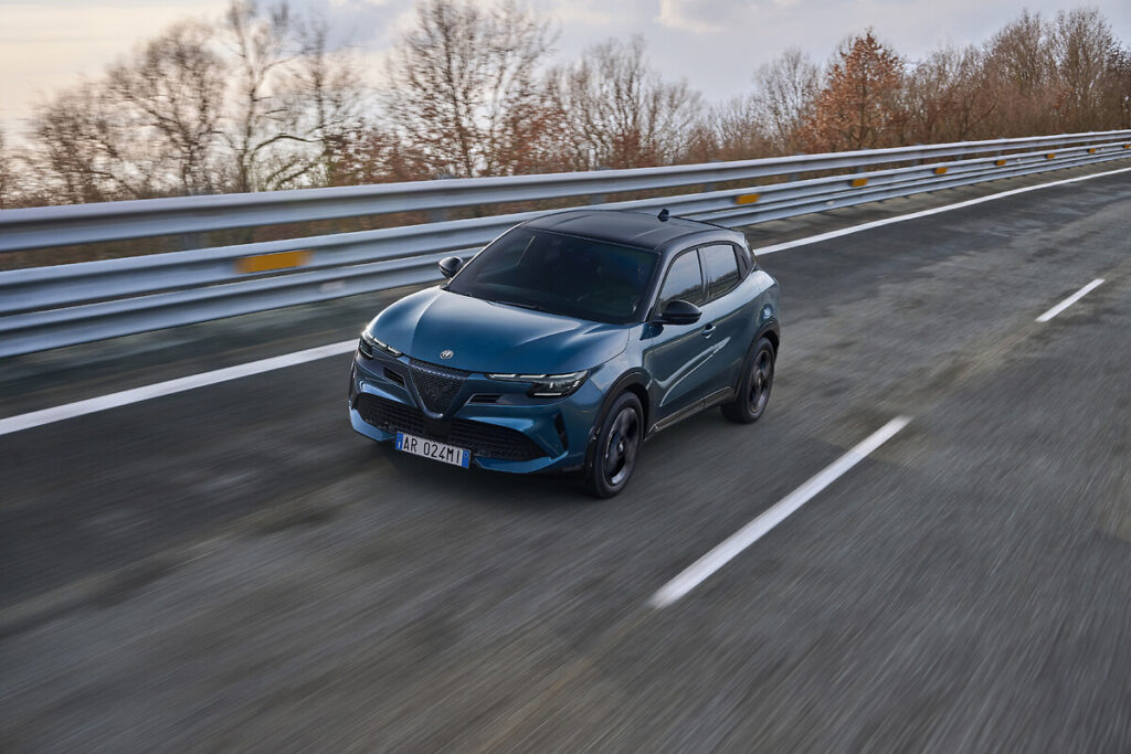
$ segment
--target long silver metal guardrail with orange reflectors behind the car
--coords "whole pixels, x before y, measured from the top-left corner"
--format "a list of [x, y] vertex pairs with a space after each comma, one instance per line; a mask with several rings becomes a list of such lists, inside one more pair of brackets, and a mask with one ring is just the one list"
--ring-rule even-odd
[[[674, 215], [736, 227], [1129, 157], [1131, 130], [707, 165], [16, 209], [0, 211], [0, 252], [688, 185], [700, 190], [581, 206], [667, 207]], [[705, 190], [724, 182], [829, 171], [855, 172]], [[560, 210], [0, 272], [0, 357], [426, 283], [439, 278], [440, 258], [474, 253], [511, 225], [546, 211]]]

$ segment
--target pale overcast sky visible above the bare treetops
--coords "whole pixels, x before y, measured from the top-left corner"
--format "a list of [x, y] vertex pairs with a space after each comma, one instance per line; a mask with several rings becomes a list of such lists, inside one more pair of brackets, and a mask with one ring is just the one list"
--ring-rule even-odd
[[[133, 45], [185, 17], [218, 18], [226, 0], [0, 0], [0, 127], [21, 130], [43, 93], [97, 76]], [[339, 38], [364, 52], [380, 76], [387, 50], [412, 16], [412, 0], [292, 0], [317, 10]], [[846, 36], [869, 26], [898, 52], [917, 58], [941, 44], [978, 43], [1024, 8], [1055, 15], [1070, 0], [530, 0], [558, 19], [559, 59], [608, 36], [641, 34], [654, 64], [685, 77], [711, 99], [750, 87], [761, 63], [786, 47], [826, 60]], [[1098, 7], [1131, 41], [1131, 0]]]

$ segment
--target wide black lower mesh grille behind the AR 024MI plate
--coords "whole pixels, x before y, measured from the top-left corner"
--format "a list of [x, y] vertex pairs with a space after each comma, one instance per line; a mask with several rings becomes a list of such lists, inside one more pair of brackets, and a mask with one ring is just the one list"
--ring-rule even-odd
[[[388, 398], [363, 392], [355, 404], [361, 417], [386, 432], [405, 432], [423, 437], [432, 437], [459, 448], [467, 448], [475, 456], [497, 458], [502, 461], [532, 461], [545, 456], [537, 443], [518, 430], [473, 422], [451, 419], [429, 422], [415, 406], [399, 404]], [[444, 435], [447, 432], [447, 436]]]

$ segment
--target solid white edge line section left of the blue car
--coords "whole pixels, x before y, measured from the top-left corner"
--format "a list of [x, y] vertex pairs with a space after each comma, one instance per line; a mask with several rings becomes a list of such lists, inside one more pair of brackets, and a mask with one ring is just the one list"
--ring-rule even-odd
[[104, 411], [109, 408], [128, 406], [129, 404], [149, 400], [150, 398], [159, 398], [161, 396], [169, 396], [174, 392], [184, 392], [185, 390], [202, 388], [205, 385], [216, 384], [217, 382], [239, 380], [240, 378], [270, 372], [284, 366], [304, 364], [305, 362], [326, 358], [327, 356], [337, 356], [338, 354], [351, 352], [356, 347], [356, 340], [343, 340], [342, 343], [333, 343], [328, 346], [308, 348], [307, 350], [296, 350], [293, 354], [273, 356], [270, 358], [259, 359], [258, 362], [248, 362], [247, 364], [238, 364], [235, 366], [214, 370], [211, 372], [201, 372], [200, 374], [190, 374], [189, 376], [178, 378], [176, 380], [167, 380], [165, 382], [156, 382], [140, 388], [133, 388], [132, 390], [112, 392], [109, 396], [79, 400], [74, 404], [55, 406], [54, 408], [44, 408], [43, 410], [32, 411], [31, 414], [20, 414], [18, 416], [0, 419], [0, 435], [19, 432], [20, 430], [29, 430], [31, 427], [51, 424], [52, 422], [61, 422], [75, 416], [85, 416], [86, 414]]

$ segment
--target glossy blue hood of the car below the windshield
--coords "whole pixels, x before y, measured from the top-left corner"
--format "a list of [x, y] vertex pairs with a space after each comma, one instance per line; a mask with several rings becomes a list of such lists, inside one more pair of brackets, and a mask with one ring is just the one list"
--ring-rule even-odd
[[[442, 288], [406, 296], [374, 318], [378, 340], [468, 372], [561, 374], [590, 369], [628, 345], [628, 327], [546, 314]], [[451, 350], [449, 358], [440, 354]]]

